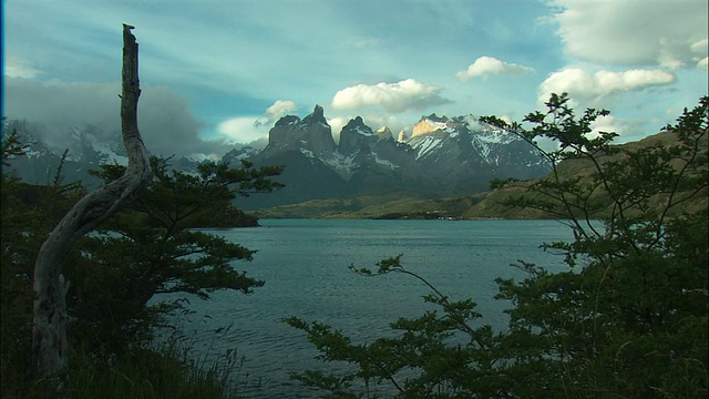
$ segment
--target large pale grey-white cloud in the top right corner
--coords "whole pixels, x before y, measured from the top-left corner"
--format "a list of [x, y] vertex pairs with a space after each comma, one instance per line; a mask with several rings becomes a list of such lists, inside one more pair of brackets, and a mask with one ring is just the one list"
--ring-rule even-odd
[[661, 65], [692, 62], [692, 44], [707, 38], [706, 0], [553, 0], [568, 55], [600, 63]]

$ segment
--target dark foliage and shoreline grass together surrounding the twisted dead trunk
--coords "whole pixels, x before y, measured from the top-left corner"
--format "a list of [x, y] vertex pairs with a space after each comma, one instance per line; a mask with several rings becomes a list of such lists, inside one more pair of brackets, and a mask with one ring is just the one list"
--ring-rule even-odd
[[[24, 154], [17, 131], [3, 130], [2, 164]], [[234, 354], [220, 362], [198, 364], [174, 347], [155, 348], [155, 338], [178, 326], [169, 320], [179, 293], [208, 299], [217, 289], [245, 294], [264, 282], [234, 268], [253, 250], [198, 227], [253, 225], [232, 206], [237, 195], [278, 187], [268, 177], [279, 167], [234, 168], [206, 162], [196, 175], [171, 170], [152, 158], [154, 178], [125, 209], [80, 239], [68, 255], [63, 275], [70, 354], [68, 370], [35, 379], [32, 361], [32, 276], [39, 247], [58, 221], [83, 196], [78, 183], [64, 184], [61, 166], [47, 186], [28, 185], [2, 170], [0, 397], [2, 398], [225, 398]], [[104, 182], [124, 167], [102, 165]], [[157, 296], [157, 297], [156, 297]], [[151, 300], [156, 298], [157, 300]], [[178, 332], [178, 331], [177, 331]]]

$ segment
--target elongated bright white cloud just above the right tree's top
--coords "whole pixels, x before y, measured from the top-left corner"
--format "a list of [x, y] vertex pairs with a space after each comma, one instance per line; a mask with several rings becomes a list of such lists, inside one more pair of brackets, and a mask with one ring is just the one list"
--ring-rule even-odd
[[672, 73], [661, 70], [598, 71], [590, 74], [579, 68], [552, 73], [538, 88], [538, 101], [547, 101], [551, 93], [569, 94], [572, 100], [597, 102], [608, 95], [639, 91], [645, 88], [674, 83]]

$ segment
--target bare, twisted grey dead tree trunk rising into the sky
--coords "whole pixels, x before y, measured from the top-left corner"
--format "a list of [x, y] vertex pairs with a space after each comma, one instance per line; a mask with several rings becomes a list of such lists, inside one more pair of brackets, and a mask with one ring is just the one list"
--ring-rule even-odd
[[56, 225], [40, 248], [34, 264], [32, 355], [38, 377], [53, 378], [66, 366], [66, 289], [61, 272], [71, 246], [124, 207], [152, 176], [150, 158], [137, 130], [137, 43], [123, 24], [123, 83], [121, 129], [129, 155], [125, 174], [81, 198]]

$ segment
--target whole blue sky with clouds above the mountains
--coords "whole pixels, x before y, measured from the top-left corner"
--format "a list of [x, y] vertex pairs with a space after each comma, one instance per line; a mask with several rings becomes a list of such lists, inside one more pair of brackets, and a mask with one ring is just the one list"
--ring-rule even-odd
[[706, 0], [4, 0], [2, 115], [61, 145], [120, 129], [122, 23], [135, 27], [146, 146], [261, 145], [316, 104], [411, 133], [422, 115], [520, 121], [549, 93], [608, 109], [634, 141], [707, 95]]

